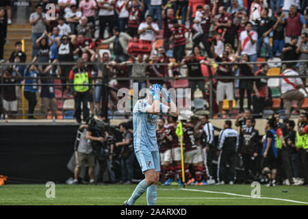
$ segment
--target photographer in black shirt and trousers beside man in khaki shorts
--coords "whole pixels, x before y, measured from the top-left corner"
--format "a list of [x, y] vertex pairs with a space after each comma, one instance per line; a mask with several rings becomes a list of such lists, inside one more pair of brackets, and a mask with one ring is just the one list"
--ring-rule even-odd
[[103, 173], [107, 168], [107, 124], [103, 122], [101, 116], [92, 118], [88, 122], [88, 129], [86, 132], [86, 139], [90, 140], [92, 151], [95, 159], [99, 164], [98, 170], [95, 174], [96, 182], [103, 181]]

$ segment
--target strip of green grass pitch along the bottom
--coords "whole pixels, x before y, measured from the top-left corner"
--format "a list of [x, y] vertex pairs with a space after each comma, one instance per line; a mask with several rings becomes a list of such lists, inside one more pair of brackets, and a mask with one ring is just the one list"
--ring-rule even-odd
[[[123, 205], [131, 195], [134, 185], [55, 185], [55, 198], [46, 198], [44, 185], [2, 185], [0, 205]], [[283, 198], [305, 203], [251, 198], [250, 185], [203, 185], [186, 186], [191, 190], [229, 192], [218, 194], [182, 190], [182, 186], [158, 186], [157, 205], [308, 205], [308, 188], [305, 186], [284, 186], [266, 188], [261, 185], [261, 197]], [[287, 192], [283, 192], [287, 190]], [[146, 205], [143, 194], [136, 205]]]

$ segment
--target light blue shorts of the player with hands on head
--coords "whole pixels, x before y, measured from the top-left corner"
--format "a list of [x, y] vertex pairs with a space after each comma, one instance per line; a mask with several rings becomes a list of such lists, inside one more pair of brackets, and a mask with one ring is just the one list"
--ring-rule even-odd
[[142, 172], [155, 169], [160, 171], [160, 158], [158, 151], [138, 151], [135, 153]]

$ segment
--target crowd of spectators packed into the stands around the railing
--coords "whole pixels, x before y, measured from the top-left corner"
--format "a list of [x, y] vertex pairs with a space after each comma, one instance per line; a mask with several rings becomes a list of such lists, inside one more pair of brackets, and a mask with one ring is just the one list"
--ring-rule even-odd
[[[47, 3], [55, 3], [55, 18], [47, 18]], [[61, 63], [76, 62], [78, 59], [93, 64], [107, 64], [103, 67], [106, 68], [107, 74], [95, 65], [86, 65], [85, 68], [90, 70], [92, 77], [126, 75], [177, 79], [181, 75], [180, 68], [184, 65], [188, 70], [183, 76], [202, 77], [202, 65], [210, 67], [214, 62], [218, 62], [218, 66], [214, 68], [213, 75], [266, 75], [266, 64], [258, 68], [257, 64], [246, 62], [256, 62], [259, 57], [266, 60], [281, 57], [283, 61], [294, 60], [294, 64], [297, 60], [307, 60], [307, 12], [307, 1], [298, 0], [42, 0], [36, 5], [36, 11], [29, 16], [32, 26], [32, 54], [27, 57], [27, 61], [42, 63], [36, 66], [40, 75], [46, 71], [49, 63], [56, 60], [55, 62], [60, 64], [60, 70], [54, 67], [50, 71], [57, 72], [62, 83], [68, 81], [74, 66]], [[1, 8], [1, 29], [2, 26], [6, 28], [6, 14], [5, 8]], [[3, 38], [6, 36], [1, 37], [0, 56], [5, 44]], [[132, 38], [151, 40], [151, 54], [129, 53], [128, 41]], [[163, 41], [161, 46], [155, 47], [160, 40]], [[106, 44], [109, 48], [103, 54], [100, 53], [100, 48]], [[21, 49], [16, 48], [9, 61], [13, 62], [17, 55], [21, 57], [21, 62], [25, 62], [24, 54], [19, 55], [20, 53]], [[235, 65], [233, 62], [241, 64]], [[135, 63], [138, 65], [131, 66]], [[155, 63], [164, 63], [166, 66], [149, 66]], [[287, 67], [290, 68], [283, 64], [282, 70]], [[26, 69], [32, 69], [36, 73], [30, 66]], [[300, 62], [296, 70], [299, 75], [307, 75], [307, 62]], [[19, 70], [18, 73], [26, 76], [26, 71], [24, 73]], [[105, 75], [102, 75], [103, 72]], [[36, 77], [36, 74], [32, 76]], [[27, 81], [30, 80], [25, 83]], [[146, 87], [146, 80], [136, 79], [134, 82], [139, 83], [139, 89]], [[218, 113], [218, 116], [222, 116], [225, 97], [229, 101], [229, 116], [232, 116], [235, 88], [240, 90], [242, 112], [245, 92], [248, 110], [261, 113], [267, 105], [271, 105], [266, 91], [266, 79], [240, 79], [238, 85], [233, 79], [218, 79], [216, 82], [214, 102], [218, 101], [218, 107], [214, 112]], [[121, 83], [125, 83], [125, 87], [131, 86], [128, 81], [118, 81], [118, 85]], [[167, 88], [172, 86], [169, 81], [161, 83]], [[190, 80], [189, 84], [193, 92], [198, 87], [203, 93], [203, 99], [206, 98], [207, 83]], [[37, 91], [36, 88], [28, 90]], [[62, 94], [65, 92], [71, 93], [68, 86], [62, 86]], [[91, 105], [91, 112], [98, 110], [96, 108], [101, 101], [99, 92], [101, 89], [95, 88], [87, 95], [86, 101], [96, 103]], [[30, 101], [32, 98], [29, 96], [26, 98], [31, 102], [31, 106], [36, 103]], [[260, 106], [260, 103], [264, 102], [267, 104]]]

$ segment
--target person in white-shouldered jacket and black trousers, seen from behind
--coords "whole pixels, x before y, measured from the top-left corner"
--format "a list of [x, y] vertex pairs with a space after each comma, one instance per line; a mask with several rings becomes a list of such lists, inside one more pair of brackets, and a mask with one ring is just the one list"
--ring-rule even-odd
[[[232, 122], [226, 120], [224, 122], [224, 130], [220, 131], [218, 138], [218, 169], [216, 184], [224, 184], [224, 181], [229, 181], [230, 185], [235, 181], [235, 162], [236, 152], [238, 151], [239, 135], [232, 127]], [[226, 170], [229, 168], [229, 175], [226, 175]], [[222, 179], [222, 181], [220, 181]]]

